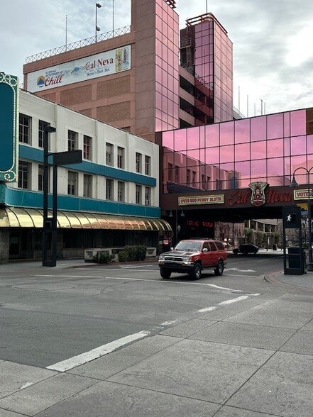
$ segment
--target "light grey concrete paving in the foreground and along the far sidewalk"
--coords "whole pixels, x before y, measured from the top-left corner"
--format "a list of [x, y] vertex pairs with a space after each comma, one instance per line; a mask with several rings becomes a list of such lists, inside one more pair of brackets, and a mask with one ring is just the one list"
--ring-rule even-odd
[[[92, 264], [59, 261], [57, 269], [83, 265]], [[283, 285], [64, 372], [0, 360], [0, 416], [312, 417], [313, 274], [271, 280]]]

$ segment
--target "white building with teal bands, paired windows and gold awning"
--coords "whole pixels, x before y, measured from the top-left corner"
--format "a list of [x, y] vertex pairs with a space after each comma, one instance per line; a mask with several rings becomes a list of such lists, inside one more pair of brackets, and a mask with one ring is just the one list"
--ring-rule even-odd
[[[55, 128], [50, 153], [82, 150], [83, 157], [57, 169], [57, 257], [80, 257], [86, 248], [162, 248], [171, 229], [160, 219], [158, 145], [23, 90], [18, 109], [18, 181], [0, 183], [2, 262], [41, 256], [46, 126]], [[50, 212], [52, 166], [48, 187]]]

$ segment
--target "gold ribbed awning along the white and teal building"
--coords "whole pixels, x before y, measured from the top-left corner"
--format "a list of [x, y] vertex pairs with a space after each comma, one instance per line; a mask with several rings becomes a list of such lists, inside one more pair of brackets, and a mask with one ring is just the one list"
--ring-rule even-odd
[[[48, 211], [48, 217], [52, 217]], [[170, 223], [161, 218], [114, 216], [111, 214], [57, 211], [58, 228], [166, 230]], [[0, 208], [0, 228], [43, 228], [43, 210], [36, 208]]]

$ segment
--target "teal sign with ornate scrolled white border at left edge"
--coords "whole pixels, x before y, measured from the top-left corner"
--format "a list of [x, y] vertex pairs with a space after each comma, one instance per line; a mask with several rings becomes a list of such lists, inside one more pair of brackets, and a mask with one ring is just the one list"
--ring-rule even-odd
[[18, 77], [0, 72], [0, 182], [18, 173]]

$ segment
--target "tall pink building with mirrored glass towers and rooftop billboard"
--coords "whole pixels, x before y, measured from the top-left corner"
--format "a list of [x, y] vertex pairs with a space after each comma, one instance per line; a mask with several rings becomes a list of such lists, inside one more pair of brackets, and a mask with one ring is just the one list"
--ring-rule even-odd
[[157, 131], [233, 119], [227, 32], [211, 13], [180, 31], [175, 0], [132, 0], [131, 26], [113, 37], [26, 62], [28, 91], [151, 141]]

